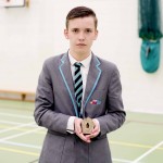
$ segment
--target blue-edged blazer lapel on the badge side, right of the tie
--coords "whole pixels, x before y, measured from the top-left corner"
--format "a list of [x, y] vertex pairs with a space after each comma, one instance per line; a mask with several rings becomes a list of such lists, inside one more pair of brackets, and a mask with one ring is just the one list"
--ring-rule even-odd
[[95, 91], [97, 84], [100, 79], [101, 76], [101, 68], [100, 66], [100, 61], [98, 60], [97, 57], [92, 54], [92, 59], [90, 62], [90, 67], [89, 67], [89, 73], [88, 73], [88, 78], [87, 78], [87, 85], [86, 85], [86, 90], [85, 90], [85, 96], [84, 96], [84, 109], [86, 108], [92, 92]]

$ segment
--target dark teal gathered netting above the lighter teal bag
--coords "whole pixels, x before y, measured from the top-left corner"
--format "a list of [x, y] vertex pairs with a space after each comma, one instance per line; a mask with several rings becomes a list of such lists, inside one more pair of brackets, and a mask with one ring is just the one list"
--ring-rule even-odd
[[162, 37], [160, 0], [139, 0], [139, 37], [148, 40]]

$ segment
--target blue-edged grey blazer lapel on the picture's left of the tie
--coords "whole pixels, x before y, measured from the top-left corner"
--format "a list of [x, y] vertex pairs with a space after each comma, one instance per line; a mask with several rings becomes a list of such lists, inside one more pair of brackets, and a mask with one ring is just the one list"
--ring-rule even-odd
[[74, 111], [76, 116], [78, 116], [77, 113], [77, 106], [76, 106], [76, 100], [75, 100], [75, 93], [74, 93], [74, 85], [73, 85], [73, 77], [72, 77], [72, 71], [71, 71], [71, 63], [67, 53], [65, 53], [61, 59], [61, 64], [59, 65], [59, 70], [61, 73], [61, 76], [63, 78], [63, 82], [65, 84], [65, 87], [68, 91], [68, 95], [71, 97], [72, 103], [74, 105]]

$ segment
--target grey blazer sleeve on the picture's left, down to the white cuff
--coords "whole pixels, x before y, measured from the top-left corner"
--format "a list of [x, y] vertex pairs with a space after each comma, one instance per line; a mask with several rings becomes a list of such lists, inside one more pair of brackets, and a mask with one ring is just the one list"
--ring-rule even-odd
[[35, 100], [34, 117], [39, 126], [50, 130], [66, 134], [68, 115], [54, 111], [54, 93], [52, 88], [51, 74], [47, 61], [39, 75]]

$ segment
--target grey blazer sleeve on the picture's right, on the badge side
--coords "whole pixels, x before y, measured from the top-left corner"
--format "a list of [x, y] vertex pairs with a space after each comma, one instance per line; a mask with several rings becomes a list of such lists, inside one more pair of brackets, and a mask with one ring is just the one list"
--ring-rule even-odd
[[122, 100], [122, 84], [116, 66], [112, 71], [108, 87], [105, 110], [105, 115], [97, 118], [100, 123], [100, 136], [120, 128], [125, 122], [126, 113]]

